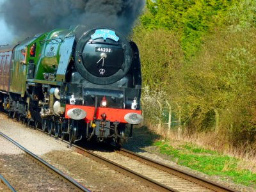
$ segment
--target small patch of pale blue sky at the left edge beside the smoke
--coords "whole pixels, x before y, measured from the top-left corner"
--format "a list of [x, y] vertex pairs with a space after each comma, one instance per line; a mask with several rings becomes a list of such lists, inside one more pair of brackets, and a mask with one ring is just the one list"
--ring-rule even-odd
[[[0, 0], [0, 6], [5, 0]], [[3, 20], [3, 13], [0, 12], [0, 45], [12, 44], [13, 35]]]

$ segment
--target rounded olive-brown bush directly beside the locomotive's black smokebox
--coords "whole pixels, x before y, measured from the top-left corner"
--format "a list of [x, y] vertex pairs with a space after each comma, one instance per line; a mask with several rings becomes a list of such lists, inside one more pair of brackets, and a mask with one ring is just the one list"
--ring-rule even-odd
[[140, 49], [143, 84], [150, 91], [166, 92], [182, 67], [179, 39], [164, 29], [144, 28], [136, 28], [133, 39]]

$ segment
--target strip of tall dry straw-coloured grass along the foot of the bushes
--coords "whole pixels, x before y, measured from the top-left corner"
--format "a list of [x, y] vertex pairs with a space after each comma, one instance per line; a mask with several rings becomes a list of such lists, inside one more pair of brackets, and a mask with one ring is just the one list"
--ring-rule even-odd
[[152, 124], [148, 125], [148, 129], [170, 140], [171, 145], [178, 146], [182, 143], [193, 143], [198, 147], [215, 150], [221, 154], [235, 157], [239, 159], [238, 169], [250, 170], [252, 173], [256, 173], [256, 143], [250, 145], [247, 143], [247, 145], [244, 144], [234, 147], [225, 138], [220, 138], [215, 132], [196, 132], [189, 134], [186, 129], [182, 131], [179, 131], [179, 129], [169, 131], [164, 126]]

